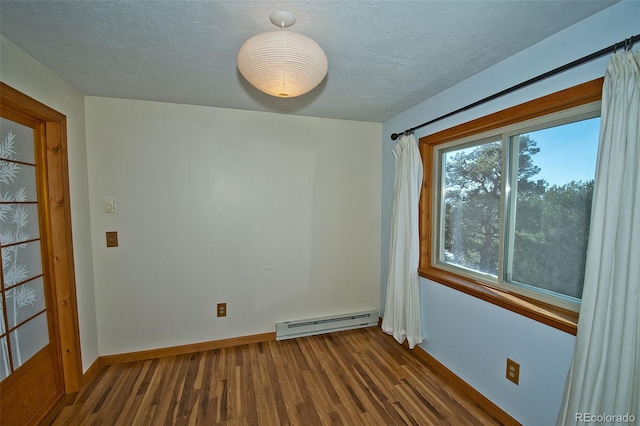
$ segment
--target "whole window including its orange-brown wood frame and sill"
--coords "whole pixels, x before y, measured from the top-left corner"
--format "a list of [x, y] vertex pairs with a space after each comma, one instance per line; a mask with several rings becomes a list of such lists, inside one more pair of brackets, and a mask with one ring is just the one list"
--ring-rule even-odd
[[601, 83], [421, 139], [421, 275], [575, 333]]

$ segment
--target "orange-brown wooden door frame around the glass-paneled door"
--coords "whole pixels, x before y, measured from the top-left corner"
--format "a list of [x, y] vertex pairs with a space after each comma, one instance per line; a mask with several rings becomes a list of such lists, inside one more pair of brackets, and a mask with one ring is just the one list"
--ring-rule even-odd
[[47, 173], [47, 217], [52, 256], [51, 280], [55, 283], [53, 315], [58, 319], [59, 357], [65, 394], [80, 390], [83, 382], [80, 329], [76, 297], [71, 203], [67, 160], [67, 117], [24, 93], [0, 82], [0, 107], [41, 120]]

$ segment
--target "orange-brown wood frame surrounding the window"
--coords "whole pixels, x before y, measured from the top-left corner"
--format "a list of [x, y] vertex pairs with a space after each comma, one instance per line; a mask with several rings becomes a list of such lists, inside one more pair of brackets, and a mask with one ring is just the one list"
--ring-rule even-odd
[[425, 173], [420, 194], [420, 276], [455, 290], [524, 315], [558, 330], [575, 335], [578, 313], [535, 299], [496, 288], [484, 282], [449, 272], [432, 262], [433, 182], [438, 145], [480, 134], [489, 130], [542, 117], [602, 99], [604, 79], [592, 80], [502, 111], [420, 138], [419, 148]]

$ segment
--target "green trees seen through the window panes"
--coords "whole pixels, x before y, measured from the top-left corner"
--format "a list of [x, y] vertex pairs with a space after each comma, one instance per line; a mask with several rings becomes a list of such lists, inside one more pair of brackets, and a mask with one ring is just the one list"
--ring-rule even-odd
[[[580, 298], [593, 180], [549, 186], [535, 179], [540, 152], [519, 136], [511, 280]], [[445, 160], [444, 257], [449, 263], [498, 274], [502, 145], [454, 151]]]

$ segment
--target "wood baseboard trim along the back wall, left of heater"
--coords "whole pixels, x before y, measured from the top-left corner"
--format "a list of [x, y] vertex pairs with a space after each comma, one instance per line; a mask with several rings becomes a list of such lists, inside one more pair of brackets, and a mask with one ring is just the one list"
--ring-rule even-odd
[[230, 339], [213, 340], [210, 342], [193, 343], [190, 345], [172, 346], [169, 348], [151, 349], [147, 351], [129, 352], [116, 355], [106, 355], [98, 359], [100, 360], [102, 365], [120, 364], [131, 361], [144, 361], [147, 359], [162, 358], [166, 356], [185, 355], [201, 351], [210, 351], [212, 349], [228, 348], [231, 346], [247, 345], [249, 343], [267, 342], [275, 339], [276, 333], [270, 332], [243, 337], [233, 337]]

